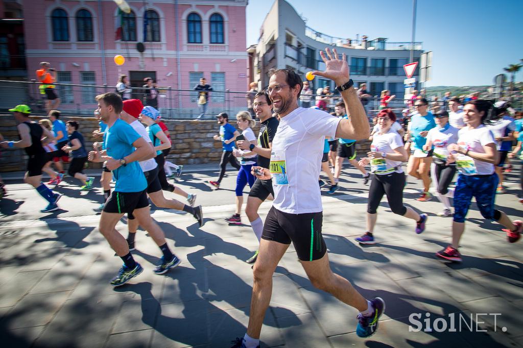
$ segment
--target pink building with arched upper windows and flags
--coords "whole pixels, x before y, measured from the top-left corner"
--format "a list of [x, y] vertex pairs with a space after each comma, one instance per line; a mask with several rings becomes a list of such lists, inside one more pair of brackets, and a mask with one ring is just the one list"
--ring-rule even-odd
[[[109, 86], [59, 86], [62, 110], [91, 113], [94, 96], [114, 91], [120, 73], [129, 76], [135, 98], [143, 98], [139, 87], [152, 77], [160, 90], [158, 107], [171, 117], [198, 114], [197, 94], [190, 90], [201, 77], [215, 91], [248, 90], [247, 0], [127, 4], [130, 11], [113, 0], [25, 2], [29, 79], [36, 78], [39, 62], [48, 61], [59, 83]], [[126, 59], [122, 66], [113, 61], [118, 54]], [[210, 99], [208, 116], [245, 105], [244, 96], [232, 92], [211, 92]]]

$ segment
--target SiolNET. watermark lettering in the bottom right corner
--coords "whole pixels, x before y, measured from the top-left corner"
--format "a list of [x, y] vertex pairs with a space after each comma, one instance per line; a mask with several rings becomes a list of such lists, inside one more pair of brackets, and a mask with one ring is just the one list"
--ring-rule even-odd
[[[409, 332], [487, 332], [488, 330], [482, 329], [479, 324], [485, 323], [483, 321], [486, 317], [494, 318], [494, 332], [497, 330], [496, 321], [497, 317], [501, 316], [501, 313], [471, 313], [466, 315], [463, 313], [449, 313], [446, 317], [439, 317], [434, 319], [430, 318], [431, 313], [426, 312], [425, 315], [422, 313], [412, 313], [408, 316], [408, 322], [411, 324], [408, 326]], [[422, 319], [425, 317], [424, 319]], [[506, 327], [502, 327], [503, 332], [507, 331]]]

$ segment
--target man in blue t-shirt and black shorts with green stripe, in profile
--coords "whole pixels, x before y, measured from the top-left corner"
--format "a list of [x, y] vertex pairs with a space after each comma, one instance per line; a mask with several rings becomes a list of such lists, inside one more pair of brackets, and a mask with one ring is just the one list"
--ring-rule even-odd
[[98, 229], [123, 261], [118, 275], [111, 280], [112, 286], [120, 286], [143, 272], [142, 266], [134, 261], [126, 239], [115, 229], [123, 214], [132, 213], [154, 240], [163, 237], [162, 229], [151, 218], [145, 191], [147, 180], [138, 164], [138, 161], [153, 158], [155, 153], [133, 127], [119, 118], [123, 108], [119, 95], [105, 93], [96, 96], [96, 100], [100, 118], [107, 123], [106, 149], [90, 152], [89, 160], [105, 161], [116, 180], [115, 190], [101, 212]]

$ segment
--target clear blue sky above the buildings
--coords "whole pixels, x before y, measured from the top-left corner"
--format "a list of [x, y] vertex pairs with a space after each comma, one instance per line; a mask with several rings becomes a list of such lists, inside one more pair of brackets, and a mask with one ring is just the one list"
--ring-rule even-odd
[[[411, 41], [412, 0], [287, 0], [307, 25], [325, 34]], [[247, 6], [247, 46], [273, 2]], [[523, 0], [417, 0], [416, 41], [433, 52], [427, 86], [490, 85], [508, 64], [523, 59]], [[508, 76], [509, 77], [509, 76]], [[523, 68], [516, 81], [523, 80]]]

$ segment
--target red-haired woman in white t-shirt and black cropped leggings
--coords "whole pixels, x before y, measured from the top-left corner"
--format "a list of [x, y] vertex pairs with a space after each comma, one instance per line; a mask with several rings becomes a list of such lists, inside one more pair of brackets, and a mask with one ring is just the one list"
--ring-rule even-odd
[[416, 221], [416, 233], [425, 230], [427, 214], [418, 214], [411, 207], [403, 205], [403, 188], [405, 187], [405, 173], [401, 167], [402, 161], [407, 160], [407, 153], [403, 148], [400, 134], [391, 129], [396, 121], [396, 115], [391, 109], [383, 109], [378, 115], [379, 131], [374, 134], [369, 157], [359, 161], [360, 166], [371, 165], [372, 182], [369, 189], [369, 203], [367, 205], [367, 231], [356, 238], [361, 244], [374, 244], [373, 231], [378, 218], [377, 208], [383, 194], [393, 213]]

